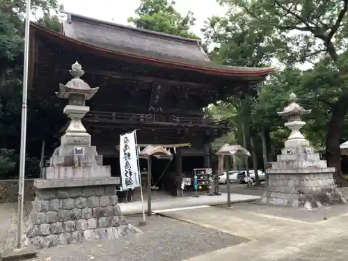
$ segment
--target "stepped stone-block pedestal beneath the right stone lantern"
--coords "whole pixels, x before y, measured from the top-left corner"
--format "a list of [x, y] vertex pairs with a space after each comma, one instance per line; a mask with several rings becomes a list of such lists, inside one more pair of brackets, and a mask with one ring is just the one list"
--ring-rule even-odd
[[284, 148], [267, 171], [267, 190], [260, 202], [308, 209], [347, 203], [335, 185], [334, 171], [313, 148]]

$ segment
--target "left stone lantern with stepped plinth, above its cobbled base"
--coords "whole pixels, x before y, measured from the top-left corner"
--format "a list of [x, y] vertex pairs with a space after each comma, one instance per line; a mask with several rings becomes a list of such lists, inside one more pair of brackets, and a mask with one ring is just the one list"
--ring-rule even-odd
[[70, 118], [70, 123], [61, 136], [61, 145], [54, 151], [49, 167], [44, 169], [43, 177], [47, 180], [110, 177], [110, 167], [102, 166], [102, 155], [98, 155], [95, 146], [90, 145], [90, 134], [81, 122], [89, 111], [86, 100], [90, 100], [99, 87], [90, 88], [80, 79], [84, 70], [79, 63], [74, 63], [69, 72], [73, 78], [67, 84], [59, 84], [56, 95], [68, 100], [63, 112]]

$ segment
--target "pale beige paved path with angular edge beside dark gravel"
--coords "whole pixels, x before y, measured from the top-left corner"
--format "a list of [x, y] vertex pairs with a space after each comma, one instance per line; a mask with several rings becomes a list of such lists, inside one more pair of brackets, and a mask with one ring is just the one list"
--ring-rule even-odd
[[[251, 239], [251, 242], [184, 261], [347, 260], [348, 206], [322, 209], [320, 212], [303, 209], [287, 209], [286, 212], [280, 207], [242, 204], [232, 209], [210, 207], [166, 212], [165, 215]], [[323, 216], [331, 217], [324, 220]]]

